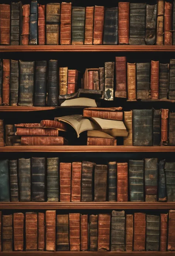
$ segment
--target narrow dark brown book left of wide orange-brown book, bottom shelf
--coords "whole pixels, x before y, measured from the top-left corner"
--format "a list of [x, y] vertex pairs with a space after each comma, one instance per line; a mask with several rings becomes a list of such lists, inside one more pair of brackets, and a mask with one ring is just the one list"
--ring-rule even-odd
[[90, 215], [89, 217], [89, 251], [97, 251], [98, 237], [98, 215]]

